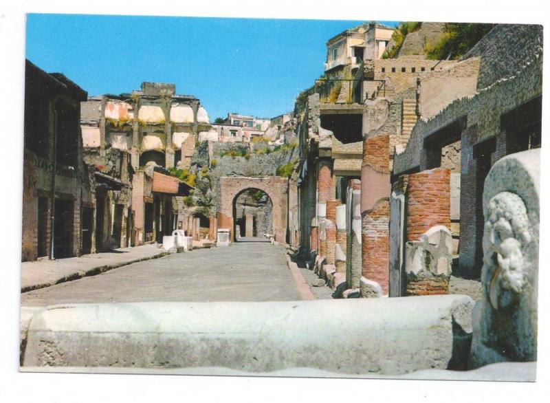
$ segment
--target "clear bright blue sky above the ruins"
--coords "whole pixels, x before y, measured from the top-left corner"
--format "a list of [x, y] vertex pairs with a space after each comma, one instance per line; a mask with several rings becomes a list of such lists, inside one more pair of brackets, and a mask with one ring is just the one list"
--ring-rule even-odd
[[271, 118], [291, 111], [322, 74], [327, 40], [362, 22], [28, 14], [26, 52], [89, 95], [175, 83], [210, 120], [228, 112]]

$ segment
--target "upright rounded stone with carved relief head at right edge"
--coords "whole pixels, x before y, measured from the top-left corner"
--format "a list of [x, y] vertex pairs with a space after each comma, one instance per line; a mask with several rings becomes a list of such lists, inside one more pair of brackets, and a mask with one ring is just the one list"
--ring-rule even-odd
[[483, 189], [483, 296], [470, 367], [536, 361], [540, 149], [498, 160]]

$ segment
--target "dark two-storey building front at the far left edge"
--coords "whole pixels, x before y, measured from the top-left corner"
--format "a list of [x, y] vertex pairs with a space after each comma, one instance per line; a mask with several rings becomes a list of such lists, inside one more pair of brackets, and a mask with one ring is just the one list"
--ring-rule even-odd
[[23, 237], [21, 259], [87, 252], [91, 201], [83, 163], [80, 101], [86, 91], [63, 74], [25, 64]]

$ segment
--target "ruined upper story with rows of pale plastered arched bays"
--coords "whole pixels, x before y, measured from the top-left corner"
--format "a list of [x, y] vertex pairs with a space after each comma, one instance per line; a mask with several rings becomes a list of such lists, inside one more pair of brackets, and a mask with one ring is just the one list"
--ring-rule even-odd
[[131, 94], [90, 97], [81, 111], [85, 149], [101, 155], [105, 149], [179, 151], [188, 138], [210, 129], [200, 101], [176, 94], [174, 84], [145, 82]]

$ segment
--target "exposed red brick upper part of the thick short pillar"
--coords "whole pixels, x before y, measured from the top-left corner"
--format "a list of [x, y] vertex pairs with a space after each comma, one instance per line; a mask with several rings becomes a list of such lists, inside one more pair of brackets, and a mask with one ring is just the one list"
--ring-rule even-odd
[[434, 168], [408, 176], [407, 240], [417, 241], [432, 226], [450, 228], [450, 171]]

